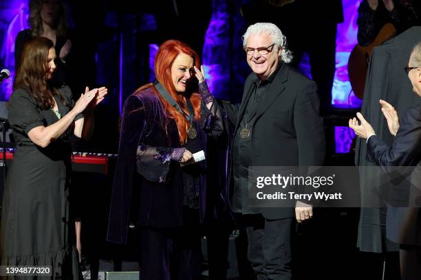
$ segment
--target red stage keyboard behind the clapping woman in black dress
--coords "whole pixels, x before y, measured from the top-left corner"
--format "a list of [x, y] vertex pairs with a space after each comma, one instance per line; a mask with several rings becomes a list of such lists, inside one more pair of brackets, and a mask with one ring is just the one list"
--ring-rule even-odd
[[[6, 164], [12, 161], [14, 150], [6, 149]], [[91, 172], [109, 173], [110, 161], [115, 161], [117, 154], [102, 154], [95, 152], [73, 152], [72, 154], [72, 170], [73, 172]], [[3, 149], [0, 149], [0, 160], [3, 159]], [[3, 161], [1, 161], [3, 165]]]

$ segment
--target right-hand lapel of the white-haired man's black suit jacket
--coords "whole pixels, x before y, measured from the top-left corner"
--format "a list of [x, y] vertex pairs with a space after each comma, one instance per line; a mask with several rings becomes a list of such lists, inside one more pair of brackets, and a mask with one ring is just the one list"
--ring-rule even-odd
[[[281, 77], [281, 78], [279, 78]], [[288, 66], [283, 63], [279, 69], [273, 82], [269, 85], [268, 89], [263, 93], [261, 101], [257, 104], [256, 119], [258, 119], [274, 100], [285, 90], [285, 82], [288, 80]]]

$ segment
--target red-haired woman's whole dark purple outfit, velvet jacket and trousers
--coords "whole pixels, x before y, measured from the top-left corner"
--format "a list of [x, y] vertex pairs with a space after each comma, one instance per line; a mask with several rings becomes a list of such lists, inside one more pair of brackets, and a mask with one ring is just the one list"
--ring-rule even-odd
[[125, 101], [107, 240], [126, 244], [129, 224], [136, 223], [141, 279], [199, 279], [206, 162], [181, 167], [171, 154], [180, 147], [206, 153], [208, 136], [218, 137], [222, 122], [216, 106], [202, 104], [193, 121], [197, 137], [182, 145], [158, 94], [149, 87]]

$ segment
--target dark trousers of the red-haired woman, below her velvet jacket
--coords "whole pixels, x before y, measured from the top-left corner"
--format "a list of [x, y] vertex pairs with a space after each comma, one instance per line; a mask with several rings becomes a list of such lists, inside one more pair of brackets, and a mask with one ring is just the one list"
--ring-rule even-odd
[[198, 280], [201, 263], [197, 226], [140, 229], [140, 279]]

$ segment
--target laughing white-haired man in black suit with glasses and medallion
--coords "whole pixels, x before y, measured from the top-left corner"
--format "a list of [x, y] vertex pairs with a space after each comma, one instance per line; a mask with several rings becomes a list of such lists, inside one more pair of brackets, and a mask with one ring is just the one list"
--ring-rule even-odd
[[[312, 206], [296, 202], [295, 213], [291, 207], [249, 207], [248, 167], [323, 165], [325, 132], [319, 96], [316, 84], [288, 65], [292, 54], [276, 25], [250, 25], [243, 45], [253, 73], [246, 79], [241, 104], [224, 104], [235, 128], [231, 209], [246, 226], [248, 259], [257, 279], [291, 279], [294, 217], [297, 222], [312, 218]], [[199, 75], [199, 82], [202, 79]]]

